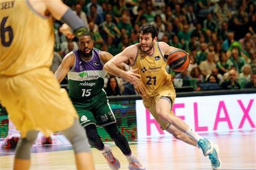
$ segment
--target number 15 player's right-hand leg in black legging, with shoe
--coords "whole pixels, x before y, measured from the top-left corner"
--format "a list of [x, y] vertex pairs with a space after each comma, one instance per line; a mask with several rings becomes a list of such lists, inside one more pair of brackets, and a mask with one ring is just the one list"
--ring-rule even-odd
[[117, 145], [117, 147], [119, 147], [122, 153], [124, 153], [124, 155], [126, 156], [129, 162], [129, 169], [145, 169], [143, 168], [140, 161], [137, 160], [137, 158], [132, 154], [126, 137], [121, 134], [121, 132], [117, 128], [116, 123], [108, 124], [107, 126], [104, 126], [104, 129], [114, 140], [114, 143]]

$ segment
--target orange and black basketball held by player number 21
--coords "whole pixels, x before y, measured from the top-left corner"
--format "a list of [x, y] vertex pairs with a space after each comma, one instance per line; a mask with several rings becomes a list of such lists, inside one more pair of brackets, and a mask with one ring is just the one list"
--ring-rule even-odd
[[167, 62], [173, 71], [181, 72], [189, 66], [189, 55], [186, 51], [175, 50], [168, 55]]

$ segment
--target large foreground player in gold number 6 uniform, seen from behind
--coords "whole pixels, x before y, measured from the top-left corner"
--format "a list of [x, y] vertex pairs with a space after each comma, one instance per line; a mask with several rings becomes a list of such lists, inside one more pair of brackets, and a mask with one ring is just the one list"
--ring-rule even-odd
[[21, 132], [14, 169], [30, 168], [30, 148], [38, 131], [45, 136], [61, 131], [74, 148], [77, 169], [94, 169], [77, 113], [49, 70], [53, 17], [67, 23], [76, 36], [87, 32], [82, 20], [61, 0], [0, 1], [0, 101]]

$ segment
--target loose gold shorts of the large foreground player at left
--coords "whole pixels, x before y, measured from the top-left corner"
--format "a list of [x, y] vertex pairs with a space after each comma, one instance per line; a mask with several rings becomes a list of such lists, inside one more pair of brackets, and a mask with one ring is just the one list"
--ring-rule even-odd
[[30, 130], [49, 136], [69, 128], [78, 118], [66, 90], [48, 68], [0, 76], [0, 101], [22, 137]]

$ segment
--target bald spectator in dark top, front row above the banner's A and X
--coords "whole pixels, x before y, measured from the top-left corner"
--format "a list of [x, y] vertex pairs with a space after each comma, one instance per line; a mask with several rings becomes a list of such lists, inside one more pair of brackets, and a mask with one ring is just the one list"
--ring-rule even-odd
[[237, 71], [230, 70], [228, 72], [228, 79], [225, 79], [223, 83], [221, 83], [221, 87], [223, 89], [241, 89], [239, 83], [237, 83]]

